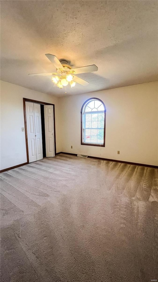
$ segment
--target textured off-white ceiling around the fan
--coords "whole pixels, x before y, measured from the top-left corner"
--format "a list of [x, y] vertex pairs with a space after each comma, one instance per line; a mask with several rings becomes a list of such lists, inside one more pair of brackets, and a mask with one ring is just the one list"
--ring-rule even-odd
[[62, 96], [51, 77], [50, 53], [89, 81], [67, 95], [158, 80], [157, 1], [1, 1], [1, 80]]

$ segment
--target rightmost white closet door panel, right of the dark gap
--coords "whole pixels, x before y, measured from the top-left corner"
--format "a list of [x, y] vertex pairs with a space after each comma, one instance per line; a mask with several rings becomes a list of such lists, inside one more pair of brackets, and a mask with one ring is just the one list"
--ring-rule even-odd
[[53, 106], [44, 105], [46, 157], [55, 157]]

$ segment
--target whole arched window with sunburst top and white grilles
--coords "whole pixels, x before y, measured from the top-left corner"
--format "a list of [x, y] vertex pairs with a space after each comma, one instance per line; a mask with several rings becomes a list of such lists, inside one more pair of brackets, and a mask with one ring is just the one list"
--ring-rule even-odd
[[85, 101], [81, 109], [81, 145], [105, 147], [104, 103], [98, 98]]

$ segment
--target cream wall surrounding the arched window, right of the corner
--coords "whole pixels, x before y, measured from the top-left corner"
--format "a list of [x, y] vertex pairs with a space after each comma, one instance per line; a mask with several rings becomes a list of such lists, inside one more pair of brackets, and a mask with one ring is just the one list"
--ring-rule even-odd
[[[62, 151], [158, 165], [157, 87], [158, 82], [150, 82], [60, 98]], [[81, 107], [92, 97], [106, 106], [105, 147], [101, 148], [80, 143]]]

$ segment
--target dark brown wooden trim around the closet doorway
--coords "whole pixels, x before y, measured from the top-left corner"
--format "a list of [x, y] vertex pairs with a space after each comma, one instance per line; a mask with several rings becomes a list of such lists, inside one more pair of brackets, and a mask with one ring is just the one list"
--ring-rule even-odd
[[41, 102], [37, 100], [31, 100], [28, 98], [23, 98], [23, 105], [24, 105], [24, 127], [25, 127], [25, 140], [26, 140], [26, 155], [27, 155], [27, 164], [29, 164], [29, 155], [28, 155], [28, 135], [27, 135], [27, 124], [26, 124], [26, 106], [25, 102], [31, 102], [31, 103], [37, 103], [37, 104], [42, 104], [42, 105], [52, 105], [53, 106], [53, 120], [54, 120], [54, 151], [56, 155], [56, 136], [55, 136], [55, 105], [46, 103], [46, 102]]

